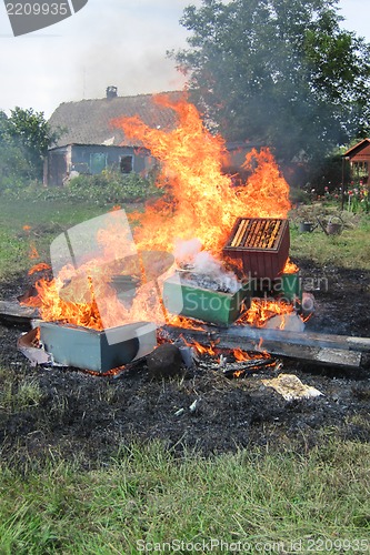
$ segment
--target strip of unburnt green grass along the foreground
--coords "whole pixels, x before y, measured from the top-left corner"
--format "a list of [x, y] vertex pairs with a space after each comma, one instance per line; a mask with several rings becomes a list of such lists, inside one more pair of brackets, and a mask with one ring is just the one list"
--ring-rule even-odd
[[369, 456], [369, 445], [329, 442], [304, 456], [177, 460], [152, 443], [122, 450], [103, 470], [57, 458], [22, 476], [3, 467], [0, 553], [139, 553], [140, 539], [248, 542], [244, 553], [273, 542], [370, 542]]

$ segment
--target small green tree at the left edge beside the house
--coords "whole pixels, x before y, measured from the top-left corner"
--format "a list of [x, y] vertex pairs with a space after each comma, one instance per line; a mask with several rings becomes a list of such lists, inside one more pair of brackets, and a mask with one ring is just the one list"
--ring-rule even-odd
[[14, 155], [18, 151], [18, 159], [23, 159], [19, 160], [19, 169], [29, 179], [42, 178], [43, 157], [59, 135], [60, 130], [51, 130], [43, 112], [34, 112], [32, 108], [16, 107], [6, 121], [0, 118], [0, 137], [9, 152]]

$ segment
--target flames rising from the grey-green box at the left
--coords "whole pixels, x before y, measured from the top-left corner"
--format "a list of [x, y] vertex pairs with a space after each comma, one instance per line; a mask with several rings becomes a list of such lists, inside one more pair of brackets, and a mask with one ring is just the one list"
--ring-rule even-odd
[[[153, 272], [163, 273], [160, 253], [131, 253], [127, 229], [118, 211], [98, 232], [99, 254], [78, 269], [66, 264], [53, 280], [36, 282], [41, 317], [104, 330], [131, 322], [162, 322], [163, 306]], [[166, 270], [166, 269], [164, 269]], [[114, 276], [129, 278], [124, 302], [120, 302]], [[131, 279], [136, 278], [137, 281]], [[138, 290], [136, 287], [138, 286]]]

